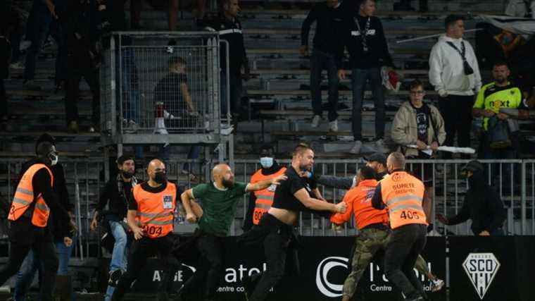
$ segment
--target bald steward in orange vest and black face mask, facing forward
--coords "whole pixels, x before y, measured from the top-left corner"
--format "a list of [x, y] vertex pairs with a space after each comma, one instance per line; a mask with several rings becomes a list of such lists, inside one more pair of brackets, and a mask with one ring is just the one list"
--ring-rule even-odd
[[[112, 301], [122, 300], [132, 283], [138, 278], [146, 259], [158, 254], [164, 268], [163, 278], [158, 289], [158, 301], [167, 301], [172, 288], [173, 275], [179, 263], [172, 257], [171, 250], [173, 219], [177, 209], [177, 186], [165, 176], [165, 164], [154, 159], [147, 167], [149, 180], [136, 185], [128, 199], [127, 223], [134, 233], [134, 242], [128, 255], [127, 271], [111, 297]], [[191, 209], [193, 207], [194, 209]], [[201, 216], [198, 205], [192, 204], [192, 216]]]

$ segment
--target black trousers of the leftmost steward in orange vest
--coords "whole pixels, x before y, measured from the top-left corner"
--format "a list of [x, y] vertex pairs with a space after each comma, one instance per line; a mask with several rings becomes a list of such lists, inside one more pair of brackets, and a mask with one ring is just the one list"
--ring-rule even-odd
[[36, 233], [33, 234], [33, 241], [30, 244], [11, 241], [10, 246], [11, 253], [9, 254], [8, 263], [0, 269], [0, 285], [4, 285], [11, 276], [17, 273], [28, 252], [33, 250], [44, 266], [44, 273], [39, 273], [41, 277], [39, 279], [41, 285], [39, 295], [42, 301], [52, 301], [59, 260], [52, 235], [48, 229], [36, 230]]

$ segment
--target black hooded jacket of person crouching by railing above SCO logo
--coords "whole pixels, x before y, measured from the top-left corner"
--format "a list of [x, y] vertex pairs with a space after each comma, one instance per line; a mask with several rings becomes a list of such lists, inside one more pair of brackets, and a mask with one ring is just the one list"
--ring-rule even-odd
[[501, 228], [507, 217], [498, 193], [485, 181], [482, 172], [474, 173], [468, 179], [469, 189], [465, 202], [457, 215], [448, 217], [448, 225], [457, 225], [472, 219], [472, 232], [494, 231]]

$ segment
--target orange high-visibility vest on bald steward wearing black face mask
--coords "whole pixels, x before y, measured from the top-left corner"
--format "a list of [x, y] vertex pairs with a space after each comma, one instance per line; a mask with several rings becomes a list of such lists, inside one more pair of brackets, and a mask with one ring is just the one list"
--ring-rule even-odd
[[173, 219], [177, 206], [177, 186], [168, 182], [162, 192], [153, 193], [136, 185], [133, 188], [134, 200], [137, 202], [137, 220], [141, 223], [145, 235], [160, 238], [173, 229]]

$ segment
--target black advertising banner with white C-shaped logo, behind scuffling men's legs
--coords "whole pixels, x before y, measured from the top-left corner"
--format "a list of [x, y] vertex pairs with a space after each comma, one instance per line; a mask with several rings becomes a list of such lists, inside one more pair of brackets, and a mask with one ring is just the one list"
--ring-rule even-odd
[[[242, 247], [228, 238], [225, 243], [225, 272], [218, 288], [223, 300], [242, 300], [244, 288], [241, 278], [266, 269], [262, 247]], [[272, 288], [272, 300], [340, 300], [344, 280], [349, 273], [348, 257], [355, 238], [351, 237], [303, 237], [302, 249], [298, 252], [301, 266], [300, 274], [288, 274], [281, 283]], [[430, 237], [423, 252], [429, 269], [439, 278], [446, 275], [446, 242], [444, 238]], [[379, 256], [380, 257], [380, 256]], [[292, 266], [292, 257], [287, 259], [287, 266]], [[149, 260], [141, 278], [134, 284], [134, 290], [153, 292], [162, 279], [158, 260]], [[175, 288], [180, 288], [183, 281], [195, 270], [195, 264], [184, 263], [182, 271], [175, 275]], [[446, 300], [446, 290], [431, 293], [429, 280], [419, 275], [431, 300]], [[382, 268], [370, 263], [360, 280], [356, 294], [365, 300], [403, 300], [399, 290], [389, 283]]]

